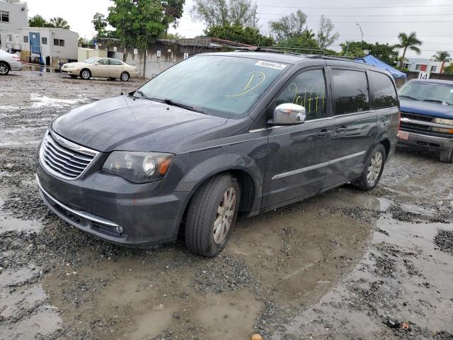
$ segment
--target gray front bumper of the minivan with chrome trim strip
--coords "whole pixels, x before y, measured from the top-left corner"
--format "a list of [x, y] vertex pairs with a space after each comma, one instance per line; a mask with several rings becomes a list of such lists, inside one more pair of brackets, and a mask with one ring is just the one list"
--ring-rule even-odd
[[145, 246], [178, 236], [189, 193], [156, 195], [159, 183], [133, 184], [94, 172], [67, 181], [37, 162], [36, 181], [44, 203], [69, 224], [117, 244]]

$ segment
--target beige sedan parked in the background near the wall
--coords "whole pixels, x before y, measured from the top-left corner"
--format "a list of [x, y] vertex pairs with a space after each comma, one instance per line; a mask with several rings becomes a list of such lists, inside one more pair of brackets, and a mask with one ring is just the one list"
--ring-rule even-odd
[[101, 57], [93, 57], [84, 62], [63, 64], [62, 72], [69, 74], [71, 78], [81, 77], [81, 79], [97, 77], [112, 80], [119, 78], [122, 81], [128, 81], [130, 78], [139, 77], [139, 72], [135, 67], [120, 60]]

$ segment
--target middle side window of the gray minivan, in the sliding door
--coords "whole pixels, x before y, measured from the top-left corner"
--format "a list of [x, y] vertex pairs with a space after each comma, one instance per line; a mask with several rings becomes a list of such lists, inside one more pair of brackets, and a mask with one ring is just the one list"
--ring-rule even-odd
[[333, 69], [335, 115], [369, 110], [367, 74], [348, 69]]

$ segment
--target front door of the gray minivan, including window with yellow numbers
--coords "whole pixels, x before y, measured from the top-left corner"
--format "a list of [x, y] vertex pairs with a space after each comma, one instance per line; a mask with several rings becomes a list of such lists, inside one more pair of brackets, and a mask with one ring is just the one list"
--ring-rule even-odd
[[276, 106], [304, 106], [306, 121], [270, 130], [262, 208], [316, 193], [323, 187], [332, 122], [326, 84], [323, 68], [304, 70], [275, 97]]

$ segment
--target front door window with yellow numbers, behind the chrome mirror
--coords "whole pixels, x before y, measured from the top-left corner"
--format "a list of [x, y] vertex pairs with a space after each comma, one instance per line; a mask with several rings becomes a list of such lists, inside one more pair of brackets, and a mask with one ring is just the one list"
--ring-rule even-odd
[[326, 117], [326, 80], [322, 69], [311, 69], [290, 80], [275, 98], [275, 105], [294, 103], [304, 106], [306, 120]]

